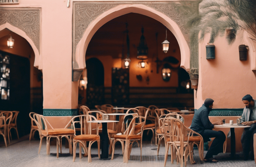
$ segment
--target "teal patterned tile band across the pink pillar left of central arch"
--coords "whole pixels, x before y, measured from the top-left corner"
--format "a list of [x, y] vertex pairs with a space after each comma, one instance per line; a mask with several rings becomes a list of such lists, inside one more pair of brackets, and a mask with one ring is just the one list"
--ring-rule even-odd
[[77, 109], [43, 109], [44, 116], [76, 116]]

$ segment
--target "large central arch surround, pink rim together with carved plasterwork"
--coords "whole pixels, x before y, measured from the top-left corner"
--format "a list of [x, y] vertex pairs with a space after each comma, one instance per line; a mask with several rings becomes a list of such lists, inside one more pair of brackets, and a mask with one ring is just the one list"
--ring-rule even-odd
[[180, 46], [181, 67], [189, 71], [189, 31], [185, 28], [184, 16], [178, 9], [182, 9], [182, 5], [193, 8], [193, 3], [197, 4], [197, 1], [73, 2], [72, 81], [78, 81], [86, 67], [85, 52], [94, 33], [107, 21], [131, 12], [154, 18], [172, 31]]

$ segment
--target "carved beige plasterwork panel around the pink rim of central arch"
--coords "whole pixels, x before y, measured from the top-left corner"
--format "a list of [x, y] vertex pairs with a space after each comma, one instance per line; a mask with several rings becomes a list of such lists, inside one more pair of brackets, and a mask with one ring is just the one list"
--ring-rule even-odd
[[88, 25], [105, 11], [120, 4], [144, 4], [161, 13], [164, 13], [177, 23], [184, 35], [185, 40], [189, 44], [189, 30], [186, 29], [185, 23], [189, 16], [188, 13], [198, 10], [198, 1], [73, 2], [73, 69], [79, 68], [75, 59], [76, 47], [78, 42], [82, 39]]

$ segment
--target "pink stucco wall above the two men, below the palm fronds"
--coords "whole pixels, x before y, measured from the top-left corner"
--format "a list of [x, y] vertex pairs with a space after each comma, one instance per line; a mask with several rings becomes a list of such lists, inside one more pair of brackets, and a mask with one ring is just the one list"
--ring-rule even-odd
[[[240, 30], [232, 45], [228, 45], [225, 36], [215, 42], [215, 59], [206, 59], [208, 34], [199, 43], [199, 85], [195, 108], [201, 107], [206, 98], [215, 100], [214, 108], [244, 108], [242, 97], [250, 94], [256, 98], [255, 42], [249, 40], [248, 33]], [[248, 45], [246, 61], [239, 60], [239, 45]]]

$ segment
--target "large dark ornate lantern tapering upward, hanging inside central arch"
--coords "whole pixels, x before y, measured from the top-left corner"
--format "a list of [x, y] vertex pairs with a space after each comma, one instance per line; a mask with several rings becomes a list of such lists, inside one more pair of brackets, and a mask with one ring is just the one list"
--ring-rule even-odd
[[139, 40], [139, 46], [137, 47], [137, 59], [144, 60], [144, 59], [147, 59], [148, 47], [147, 47], [145, 37], [143, 35], [144, 33], [143, 27], [141, 28], [141, 33], [142, 35]]

